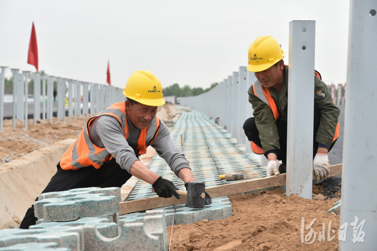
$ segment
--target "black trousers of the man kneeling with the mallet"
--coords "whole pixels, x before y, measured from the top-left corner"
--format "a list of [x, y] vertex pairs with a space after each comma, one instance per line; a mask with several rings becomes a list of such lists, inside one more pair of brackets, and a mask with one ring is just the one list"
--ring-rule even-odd
[[[122, 187], [132, 177], [131, 174], [120, 167], [115, 158], [101, 166], [100, 169], [88, 166], [78, 170], [63, 170], [60, 168], [60, 162], [56, 167], [58, 169], [56, 174], [42, 193], [67, 191], [75, 188]], [[35, 201], [37, 200], [38, 197]], [[29, 226], [35, 225], [37, 220], [34, 216], [34, 205], [32, 205], [26, 211], [20, 228], [29, 229]]]

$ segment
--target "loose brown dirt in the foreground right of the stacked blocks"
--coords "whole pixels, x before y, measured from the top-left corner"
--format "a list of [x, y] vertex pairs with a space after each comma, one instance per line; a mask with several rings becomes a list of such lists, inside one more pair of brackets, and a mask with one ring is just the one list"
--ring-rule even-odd
[[[340, 217], [327, 210], [336, 200], [307, 200], [285, 191], [267, 191], [252, 195], [229, 196], [233, 217], [224, 220], [203, 220], [194, 224], [173, 226], [171, 250], [335, 250]], [[301, 242], [302, 217], [306, 227], [315, 218], [312, 228], [316, 239], [312, 244]], [[318, 241], [318, 232], [325, 223], [325, 239]], [[168, 243], [171, 227], [167, 227]], [[304, 228], [304, 237], [310, 232]], [[306, 240], [311, 242], [312, 238]], [[305, 241], [305, 239], [304, 239]]]

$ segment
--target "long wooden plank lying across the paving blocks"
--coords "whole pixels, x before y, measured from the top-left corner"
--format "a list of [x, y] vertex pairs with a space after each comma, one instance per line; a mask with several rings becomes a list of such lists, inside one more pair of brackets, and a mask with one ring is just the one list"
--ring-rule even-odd
[[[342, 174], [342, 164], [330, 165], [330, 175], [341, 175]], [[313, 180], [316, 176], [313, 173]], [[253, 190], [277, 187], [286, 184], [286, 174], [278, 176], [270, 176], [260, 179], [245, 180], [240, 182], [233, 182], [226, 185], [213, 186], [206, 189], [207, 193], [211, 198], [217, 198], [226, 195], [239, 194], [244, 192], [249, 192]], [[166, 207], [176, 204], [186, 203], [186, 197], [180, 196], [177, 200], [175, 197], [171, 198], [160, 198], [160, 197], [150, 197], [146, 199], [126, 201], [119, 203], [121, 212], [120, 214], [133, 213], [153, 208]]]

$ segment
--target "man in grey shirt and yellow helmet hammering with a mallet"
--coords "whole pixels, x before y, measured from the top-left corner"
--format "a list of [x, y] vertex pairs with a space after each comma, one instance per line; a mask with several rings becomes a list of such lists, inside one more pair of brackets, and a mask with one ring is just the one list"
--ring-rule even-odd
[[[189, 163], [156, 117], [165, 104], [160, 80], [150, 71], [135, 71], [127, 80], [125, 102], [111, 105], [88, 120], [77, 140], [57, 164], [57, 172], [42, 193], [87, 187], [122, 187], [132, 176], [152, 185], [159, 196], [179, 199], [174, 184], [150, 171], [139, 156], [150, 145], [185, 184], [195, 181]], [[38, 198], [37, 198], [38, 199]], [[205, 204], [211, 204], [206, 193]], [[36, 224], [34, 207], [20, 228]]]

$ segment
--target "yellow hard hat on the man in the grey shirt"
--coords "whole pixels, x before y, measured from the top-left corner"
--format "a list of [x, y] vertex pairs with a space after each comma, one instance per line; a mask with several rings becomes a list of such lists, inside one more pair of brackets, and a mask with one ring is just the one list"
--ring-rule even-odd
[[149, 70], [138, 70], [132, 73], [127, 80], [123, 94], [127, 98], [147, 106], [165, 104], [161, 82]]

